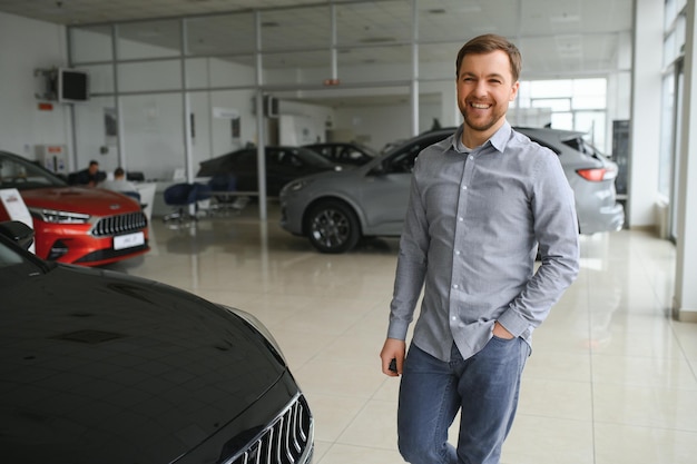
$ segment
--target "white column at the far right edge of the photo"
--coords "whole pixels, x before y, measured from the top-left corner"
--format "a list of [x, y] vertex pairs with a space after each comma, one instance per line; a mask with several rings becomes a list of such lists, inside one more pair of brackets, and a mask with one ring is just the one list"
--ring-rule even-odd
[[[673, 309], [679, 320], [697, 323], [697, 43], [695, 2], [687, 2], [685, 98], [678, 172], [677, 258]], [[691, 211], [691, 214], [690, 214]]]

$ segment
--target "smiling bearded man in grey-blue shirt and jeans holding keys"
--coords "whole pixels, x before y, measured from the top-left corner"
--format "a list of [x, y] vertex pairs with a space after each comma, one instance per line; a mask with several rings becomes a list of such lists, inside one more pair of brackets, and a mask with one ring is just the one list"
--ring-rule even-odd
[[[380, 354], [383, 373], [402, 376], [399, 447], [413, 464], [499, 463], [532, 332], [578, 274], [573, 194], [559, 159], [505, 120], [520, 68], [502, 37], [465, 43], [455, 61], [464, 122], [414, 165]], [[455, 447], [448, 428], [458, 412]]]

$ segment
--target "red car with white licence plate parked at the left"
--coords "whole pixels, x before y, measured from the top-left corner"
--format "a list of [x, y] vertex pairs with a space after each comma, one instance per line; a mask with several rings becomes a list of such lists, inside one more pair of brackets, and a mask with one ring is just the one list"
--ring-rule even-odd
[[[0, 151], [0, 189], [16, 188], [35, 229], [37, 256], [100, 266], [143, 255], [148, 221], [140, 204], [125, 195], [70, 187], [60, 177], [17, 155]], [[0, 204], [0, 221], [10, 219]]]

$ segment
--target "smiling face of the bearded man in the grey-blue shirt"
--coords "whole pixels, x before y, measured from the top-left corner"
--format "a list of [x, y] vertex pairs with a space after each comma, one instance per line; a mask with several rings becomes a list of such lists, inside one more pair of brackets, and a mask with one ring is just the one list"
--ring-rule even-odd
[[508, 105], [518, 93], [511, 63], [502, 50], [465, 55], [458, 75], [458, 107], [464, 124], [491, 136], [504, 121]]

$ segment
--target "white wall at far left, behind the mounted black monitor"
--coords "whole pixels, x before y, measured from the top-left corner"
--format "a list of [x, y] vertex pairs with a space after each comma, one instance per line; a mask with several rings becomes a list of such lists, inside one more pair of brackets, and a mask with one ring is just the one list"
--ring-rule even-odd
[[65, 43], [61, 26], [0, 12], [0, 149], [36, 159], [37, 145], [67, 145], [71, 158], [68, 106], [41, 111], [35, 97], [43, 88], [35, 70], [66, 66]]

